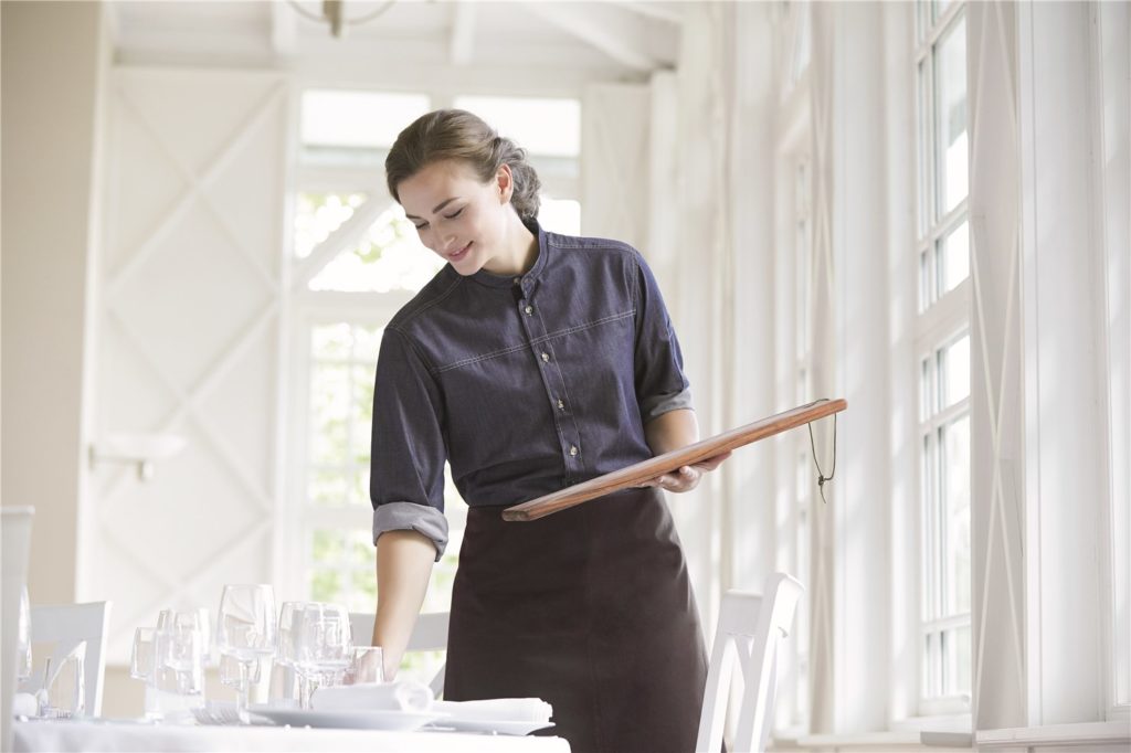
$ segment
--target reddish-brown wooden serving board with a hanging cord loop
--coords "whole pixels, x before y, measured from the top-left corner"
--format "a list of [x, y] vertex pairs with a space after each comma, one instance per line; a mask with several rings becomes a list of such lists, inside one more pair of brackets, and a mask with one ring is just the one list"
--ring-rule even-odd
[[756, 421], [752, 424], [733, 429], [725, 434], [718, 434], [701, 442], [680, 448], [679, 450], [672, 450], [642, 462], [614, 470], [611, 474], [590, 478], [581, 484], [568, 486], [553, 494], [546, 494], [536, 500], [507, 508], [502, 511], [502, 519], [537, 520], [538, 518], [544, 518], [566, 508], [572, 508], [576, 504], [588, 502], [612, 492], [640, 486], [647, 481], [682, 468], [683, 466], [690, 466], [700, 460], [729, 452], [743, 444], [750, 444], [767, 436], [780, 434], [789, 429], [803, 426], [818, 418], [840, 413], [847, 407], [848, 403], [844, 399], [815, 400], [775, 416]]

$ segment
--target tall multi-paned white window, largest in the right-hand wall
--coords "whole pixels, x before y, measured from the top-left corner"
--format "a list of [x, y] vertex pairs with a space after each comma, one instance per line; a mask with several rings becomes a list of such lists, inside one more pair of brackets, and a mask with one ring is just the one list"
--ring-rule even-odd
[[969, 710], [970, 346], [966, 19], [917, 3], [920, 713]]

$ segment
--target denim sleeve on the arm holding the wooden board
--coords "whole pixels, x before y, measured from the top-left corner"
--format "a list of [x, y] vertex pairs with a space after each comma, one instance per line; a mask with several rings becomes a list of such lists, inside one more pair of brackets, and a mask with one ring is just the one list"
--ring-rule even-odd
[[639, 253], [636, 295], [636, 392], [640, 419], [647, 424], [670, 410], [691, 407], [683, 374], [683, 353], [651, 269]]

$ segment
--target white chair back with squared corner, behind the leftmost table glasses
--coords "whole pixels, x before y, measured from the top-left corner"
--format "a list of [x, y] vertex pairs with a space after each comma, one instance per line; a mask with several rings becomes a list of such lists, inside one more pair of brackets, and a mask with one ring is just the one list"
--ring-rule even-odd
[[[32, 607], [32, 643], [54, 642], [51, 666], [86, 641], [84, 684], [86, 687], [86, 716], [102, 715], [102, 685], [106, 674], [106, 634], [110, 631], [111, 601], [89, 604], [51, 604]], [[45, 658], [45, 657], [44, 657]], [[28, 687], [43, 687], [43, 665], [35, 658], [37, 673], [32, 674]]]

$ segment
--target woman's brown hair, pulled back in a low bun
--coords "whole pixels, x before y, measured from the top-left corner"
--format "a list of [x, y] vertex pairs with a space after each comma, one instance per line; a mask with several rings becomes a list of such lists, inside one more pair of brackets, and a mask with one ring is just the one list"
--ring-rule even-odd
[[510, 202], [523, 219], [537, 218], [542, 182], [526, 162], [526, 150], [465, 110], [437, 110], [400, 131], [385, 158], [389, 193], [400, 201], [397, 187], [403, 181], [444, 159], [466, 163], [483, 183], [493, 181], [502, 165], [510, 165], [515, 179]]

